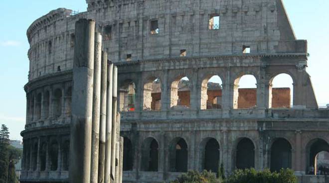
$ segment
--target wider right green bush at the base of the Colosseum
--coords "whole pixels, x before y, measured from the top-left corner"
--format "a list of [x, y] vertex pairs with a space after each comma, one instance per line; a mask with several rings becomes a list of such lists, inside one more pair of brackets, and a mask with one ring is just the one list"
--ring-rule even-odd
[[297, 183], [297, 178], [290, 169], [281, 169], [273, 173], [268, 169], [245, 169], [235, 171], [224, 183]]

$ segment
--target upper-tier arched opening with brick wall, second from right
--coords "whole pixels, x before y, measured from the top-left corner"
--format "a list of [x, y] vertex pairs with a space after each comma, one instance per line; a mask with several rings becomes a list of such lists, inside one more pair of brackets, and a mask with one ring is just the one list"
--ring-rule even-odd
[[257, 81], [253, 75], [243, 75], [234, 81], [233, 108], [253, 108], [257, 104]]

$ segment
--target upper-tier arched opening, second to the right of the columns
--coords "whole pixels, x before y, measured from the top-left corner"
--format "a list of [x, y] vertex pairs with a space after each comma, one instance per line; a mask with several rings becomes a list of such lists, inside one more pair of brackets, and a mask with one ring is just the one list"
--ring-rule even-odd
[[151, 78], [144, 85], [144, 110], [161, 109], [161, 83], [158, 78]]

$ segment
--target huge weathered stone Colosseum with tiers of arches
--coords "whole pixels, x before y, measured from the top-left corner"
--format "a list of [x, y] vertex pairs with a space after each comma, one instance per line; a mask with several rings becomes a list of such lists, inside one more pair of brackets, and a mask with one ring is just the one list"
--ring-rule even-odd
[[[299, 183], [329, 152], [329, 109], [319, 108], [282, 0], [86, 0], [27, 30], [29, 75], [22, 183], [68, 182], [75, 22], [94, 19], [118, 67], [125, 183], [169, 182], [223, 165], [292, 168]], [[302, 3], [302, 2], [301, 2]], [[275, 88], [289, 75], [291, 88]], [[253, 76], [255, 88], [239, 88]], [[242, 80], [241, 80], [242, 81]]]

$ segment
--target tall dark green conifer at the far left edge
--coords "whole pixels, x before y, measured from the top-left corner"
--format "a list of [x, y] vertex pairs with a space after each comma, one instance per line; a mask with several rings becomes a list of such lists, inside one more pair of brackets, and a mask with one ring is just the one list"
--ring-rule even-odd
[[7, 177], [9, 165], [8, 147], [8, 128], [4, 124], [2, 124], [0, 129], [0, 183], [5, 183]]

